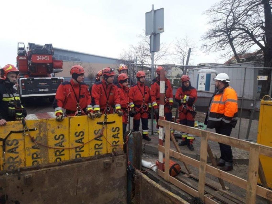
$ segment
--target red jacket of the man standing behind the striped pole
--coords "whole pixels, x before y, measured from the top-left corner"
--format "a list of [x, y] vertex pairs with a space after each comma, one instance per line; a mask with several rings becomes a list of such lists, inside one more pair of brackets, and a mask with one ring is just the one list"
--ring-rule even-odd
[[[165, 104], [173, 105], [173, 91], [171, 87], [171, 82], [165, 78]], [[151, 103], [152, 106], [156, 109], [157, 106], [160, 104], [160, 80], [158, 78], [153, 79], [153, 83], [150, 87], [150, 94], [151, 94]]]

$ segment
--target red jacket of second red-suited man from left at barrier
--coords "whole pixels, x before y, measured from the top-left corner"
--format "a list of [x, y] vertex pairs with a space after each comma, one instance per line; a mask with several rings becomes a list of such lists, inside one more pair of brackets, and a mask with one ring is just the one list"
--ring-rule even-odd
[[113, 109], [121, 109], [120, 94], [115, 84], [106, 84], [102, 79], [92, 86], [92, 106], [94, 111], [114, 113]]

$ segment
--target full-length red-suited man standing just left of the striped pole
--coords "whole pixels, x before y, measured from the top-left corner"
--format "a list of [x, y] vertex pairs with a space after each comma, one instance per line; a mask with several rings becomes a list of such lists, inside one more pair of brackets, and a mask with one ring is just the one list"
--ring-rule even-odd
[[150, 141], [148, 137], [148, 113], [151, 109], [150, 89], [144, 84], [146, 74], [144, 71], [139, 71], [136, 74], [137, 83], [132, 85], [129, 90], [129, 105], [133, 118], [133, 131], [139, 131], [140, 119], [142, 120], [142, 135], [143, 139]]

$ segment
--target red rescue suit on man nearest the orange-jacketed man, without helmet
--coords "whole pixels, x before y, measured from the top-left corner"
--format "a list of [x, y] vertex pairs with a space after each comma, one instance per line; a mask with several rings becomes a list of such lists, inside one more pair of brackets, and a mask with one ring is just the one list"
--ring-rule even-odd
[[196, 88], [191, 86], [191, 83], [188, 87], [182, 86], [177, 89], [175, 101], [180, 104], [178, 108], [180, 124], [194, 127], [193, 105], [196, 102], [196, 99], [197, 91]]

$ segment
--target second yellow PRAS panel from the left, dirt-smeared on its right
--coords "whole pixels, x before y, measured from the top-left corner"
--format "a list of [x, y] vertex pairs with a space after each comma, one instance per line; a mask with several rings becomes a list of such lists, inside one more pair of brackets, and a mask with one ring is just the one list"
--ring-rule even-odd
[[40, 144], [35, 144], [30, 137], [34, 137], [38, 143], [47, 145], [47, 120], [27, 120], [26, 126], [28, 129], [37, 128], [36, 131], [26, 132], [25, 152], [26, 152], [26, 166], [34, 166], [48, 163], [48, 148]]

